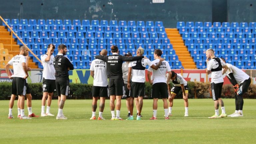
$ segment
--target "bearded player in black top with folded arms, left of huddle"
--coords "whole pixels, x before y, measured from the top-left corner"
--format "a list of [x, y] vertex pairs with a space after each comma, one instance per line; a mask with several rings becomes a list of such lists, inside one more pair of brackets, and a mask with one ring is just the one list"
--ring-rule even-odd
[[70, 60], [65, 57], [67, 52], [67, 46], [60, 44], [58, 46], [58, 54], [53, 59], [53, 65], [55, 69], [55, 77], [56, 77], [56, 91], [57, 95], [60, 97], [59, 102], [59, 110], [56, 119], [67, 119], [67, 117], [63, 114], [63, 107], [69, 94], [69, 70], [74, 70], [73, 64]]

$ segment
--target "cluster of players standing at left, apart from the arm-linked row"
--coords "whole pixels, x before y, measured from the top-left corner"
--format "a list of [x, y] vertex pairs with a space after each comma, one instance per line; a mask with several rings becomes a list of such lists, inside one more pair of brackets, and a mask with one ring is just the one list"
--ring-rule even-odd
[[[50, 113], [50, 105], [52, 100], [52, 95], [56, 89], [58, 95], [58, 105], [59, 111], [56, 119], [67, 119], [63, 114], [63, 107], [66, 100], [66, 96], [69, 93], [69, 70], [73, 70], [73, 64], [69, 59], [64, 56], [67, 52], [67, 46], [61, 44], [58, 46], [58, 54], [54, 58], [52, 55], [55, 46], [49, 44], [47, 48], [47, 53], [41, 56], [43, 70], [43, 98], [42, 98], [42, 112], [41, 116], [54, 116]], [[31, 119], [30, 117], [39, 117], [32, 113], [31, 104], [31, 93], [27, 84], [28, 71], [31, 69], [28, 67], [29, 57], [28, 49], [25, 46], [21, 46], [20, 54], [13, 57], [8, 64], [5, 66], [6, 73], [12, 81], [11, 89], [11, 99], [9, 103], [9, 114], [8, 118], [14, 118], [12, 115], [12, 108], [16, 95], [18, 95], [18, 117], [20, 119]], [[13, 75], [10, 74], [9, 67], [13, 66]], [[25, 96], [27, 97], [27, 106], [29, 115], [24, 114], [24, 101]], [[47, 109], [45, 109], [45, 101], [47, 99]]]

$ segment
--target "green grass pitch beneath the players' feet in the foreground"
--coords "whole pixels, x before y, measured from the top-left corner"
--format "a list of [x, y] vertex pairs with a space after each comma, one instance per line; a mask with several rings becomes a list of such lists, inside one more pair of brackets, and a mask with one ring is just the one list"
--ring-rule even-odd
[[[234, 99], [223, 99], [227, 114], [235, 110]], [[110, 120], [109, 100], [103, 113], [106, 120], [89, 120], [92, 100], [67, 100], [64, 115], [20, 120], [17, 116], [17, 100], [13, 107], [14, 119], [8, 119], [9, 101], [0, 101], [1, 144], [94, 144], [94, 143], [168, 143], [168, 144], [222, 144], [255, 142], [256, 99], [244, 99], [244, 117], [208, 119], [214, 114], [212, 99], [189, 99], [189, 117], [184, 117], [183, 99], [175, 99], [173, 116], [164, 120], [162, 100], [158, 101], [158, 120], [152, 116], [151, 99], [144, 100], [142, 120]], [[26, 104], [25, 104], [26, 107]], [[32, 100], [32, 110], [41, 113], [41, 100]], [[96, 116], [98, 116], [98, 108]], [[136, 111], [136, 109], [134, 108]], [[57, 114], [57, 100], [52, 101], [51, 113]], [[221, 113], [221, 109], [220, 109]], [[28, 114], [25, 108], [25, 114]], [[126, 119], [127, 108], [122, 100], [121, 117]], [[136, 119], [136, 116], [135, 116]], [[254, 140], [253, 140], [254, 139]]]

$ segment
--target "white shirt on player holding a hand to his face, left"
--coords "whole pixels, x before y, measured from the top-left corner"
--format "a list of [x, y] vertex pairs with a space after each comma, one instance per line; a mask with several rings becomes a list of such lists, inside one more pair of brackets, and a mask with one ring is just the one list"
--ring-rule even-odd
[[47, 58], [47, 54], [43, 54], [41, 55], [41, 61], [44, 67], [43, 70], [43, 78], [45, 79], [55, 79], [55, 69], [54, 69], [54, 65], [53, 65], [53, 59], [54, 56], [51, 55], [50, 61], [45, 62], [45, 59]]

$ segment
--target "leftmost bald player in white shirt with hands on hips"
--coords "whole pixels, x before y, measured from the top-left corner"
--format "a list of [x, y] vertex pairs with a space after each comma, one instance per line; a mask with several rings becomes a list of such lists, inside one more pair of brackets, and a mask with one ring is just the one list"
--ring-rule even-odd
[[[28, 67], [26, 56], [28, 55], [28, 49], [25, 46], [20, 47], [20, 54], [13, 57], [8, 64], [5, 66], [6, 73], [8, 77], [12, 80], [12, 89], [11, 89], [11, 100], [9, 103], [9, 115], [8, 118], [14, 118], [12, 116], [12, 106], [15, 100], [16, 95], [19, 96], [18, 99], [18, 108], [20, 108], [20, 119], [31, 119], [30, 117], [25, 116], [24, 113], [24, 101], [27, 90], [26, 78], [28, 77]], [[9, 73], [9, 67], [13, 66], [13, 75]], [[31, 109], [31, 108], [30, 108]], [[32, 110], [32, 109], [31, 109]]]

